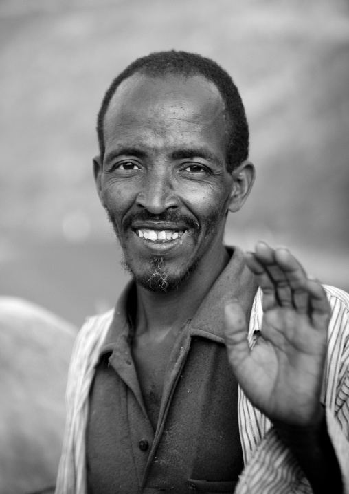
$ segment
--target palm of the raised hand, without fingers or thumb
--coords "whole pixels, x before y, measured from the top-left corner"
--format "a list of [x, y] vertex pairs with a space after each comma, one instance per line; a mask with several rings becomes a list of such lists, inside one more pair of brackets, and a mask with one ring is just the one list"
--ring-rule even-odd
[[264, 314], [261, 333], [240, 366], [245, 393], [271, 420], [311, 421], [321, 392], [326, 333], [292, 308]]

